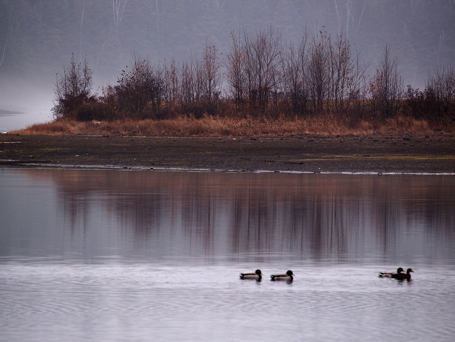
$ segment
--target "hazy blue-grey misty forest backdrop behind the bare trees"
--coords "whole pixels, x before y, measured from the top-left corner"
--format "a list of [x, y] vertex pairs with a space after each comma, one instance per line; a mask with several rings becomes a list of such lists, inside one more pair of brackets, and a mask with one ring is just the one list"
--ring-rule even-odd
[[429, 73], [455, 61], [454, 22], [451, 0], [0, 0], [0, 111], [51, 117], [56, 74], [72, 54], [88, 59], [100, 93], [133, 52], [181, 62], [209, 44], [225, 57], [231, 30], [268, 27], [284, 44], [305, 29], [343, 32], [371, 74], [390, 44], [404, 86], [423, 90]]

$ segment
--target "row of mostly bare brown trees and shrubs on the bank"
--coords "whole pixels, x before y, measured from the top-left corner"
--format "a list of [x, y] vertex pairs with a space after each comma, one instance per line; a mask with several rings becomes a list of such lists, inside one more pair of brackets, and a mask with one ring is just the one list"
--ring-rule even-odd
[[[126, 119], [122, 125], [139, 120], [134, 125], [145, 126], [142, 130], [153, 135], [163, 134], [160, 127], [168, 126], [167, 120], [173, 121], [172, 130], [177, 132], [190, 129], [187, 135], [201, 130], [244, 135], [339, 134], [359, 128], [383, 132], [395, 121], [405, 120], [412, 127], [416, 118], [423, 120], [419, 127], [425, 122], [437, 127], [455, 119], [451, 66], [435, 70], [423, 92], [410, 86], [404, 92], [398, 60], [388, 45], [370, 75], [370, 63], [361, 62], [346, 36], [333, 36], [324, 27], [316, 35], [305, 31], [298, 45], [285, 44], [271, 28], [256, 34], [231, 32], [231, 38], [225, 59], [209, 44], [200, 56], [181, 63], [152, 65], [148, 58], [133, 54], [117, 83], [96, 95], [90, 94], [92, 71], [87, 61], [82, 64], [73, 57], [56, 77], [55, 117], [114, 121], [114, 126], [118, 120]], [[164, 121], [151, 124], [151, 119]], [[205, 127], [207, 121], [214, 126]]]

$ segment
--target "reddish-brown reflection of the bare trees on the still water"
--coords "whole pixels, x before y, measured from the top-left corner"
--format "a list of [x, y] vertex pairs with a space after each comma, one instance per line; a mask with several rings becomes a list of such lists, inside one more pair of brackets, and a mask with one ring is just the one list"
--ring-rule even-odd
[[386, 260], [418, 249], [453, 258], [450, 243], [439, 244], [442, 236], [454, 239], [453, 176], [21, 172], [55, 184], [76, 249], [334, 262]]

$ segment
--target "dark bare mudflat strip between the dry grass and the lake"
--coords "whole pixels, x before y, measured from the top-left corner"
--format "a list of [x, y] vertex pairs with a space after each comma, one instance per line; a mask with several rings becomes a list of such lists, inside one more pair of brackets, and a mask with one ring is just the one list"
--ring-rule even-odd
[[455, 134], [260, 137], [2, 134], [0, 166], [455, 173]]

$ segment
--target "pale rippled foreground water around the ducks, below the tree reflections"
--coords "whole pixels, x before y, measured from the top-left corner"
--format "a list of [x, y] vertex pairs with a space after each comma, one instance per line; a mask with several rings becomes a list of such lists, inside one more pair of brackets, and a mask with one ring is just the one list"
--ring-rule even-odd
[[[447, 339], [455, 333], [455, 270], [431, 277], [421, 268], [411, 282], [379, 278], [370, 267], [295, 266], [293, 271], [295, 280], [287, 284], [269, 281], [268, 273], [261, 282], [242, 281], [235, 265], [12, 263], [0, 268], [0, 329], [9, 339], [53, 329], [51, 322], [61, 322], [66, 336], [75, 339], [84, 338], [81, 324], [91, 327], [95, 339], [115, 331], [141, 339], [144, 329], [160, 332], [157, 338], [179, 339], [185, 333], [198, 339], [201, 332], [210, 336], [207, 324], [218, 330], [214, 338], [221, 333], [232, 339], [250, 329], [267, 331], [256, 336], [265, 340], [355, 340], [359, 334], [383, 339], [384, 329], [408, 326], [413, 330], [403, 340]], [[285, 332], [270, 330], [273, 326]]]

